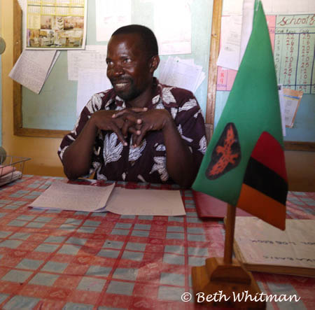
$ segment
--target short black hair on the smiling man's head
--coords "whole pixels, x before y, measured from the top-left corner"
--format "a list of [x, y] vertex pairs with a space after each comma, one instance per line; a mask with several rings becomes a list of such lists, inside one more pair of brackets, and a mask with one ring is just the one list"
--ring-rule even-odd
[[148, 27], [142, 26], [141, 24], [129, 24], [118, 28], [111, 36], [115, 36], [116, 34], [139, 34], [144, 42], [149, 57], [158, 55], [159, 53], [158, 41], [153, 31]]

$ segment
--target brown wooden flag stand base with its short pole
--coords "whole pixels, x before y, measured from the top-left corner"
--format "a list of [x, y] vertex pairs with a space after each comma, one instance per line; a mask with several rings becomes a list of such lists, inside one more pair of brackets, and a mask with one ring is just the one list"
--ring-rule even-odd
[[265, 297], [251, 272], [232, 260], [236, 207], [228, 204], [224, 258], [207, 258], [206, 265], [193, 267], [193, 291], [197, 304], [211, 307], [265, 309]]

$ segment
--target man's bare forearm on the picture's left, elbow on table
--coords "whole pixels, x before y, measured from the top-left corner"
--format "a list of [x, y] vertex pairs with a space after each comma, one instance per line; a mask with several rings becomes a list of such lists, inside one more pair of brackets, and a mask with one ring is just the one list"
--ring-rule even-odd
[[64, 151], [62, 164], [69, 180], [89, 173], [96, 134], [97, 127], [88, 120], [76, 141]]

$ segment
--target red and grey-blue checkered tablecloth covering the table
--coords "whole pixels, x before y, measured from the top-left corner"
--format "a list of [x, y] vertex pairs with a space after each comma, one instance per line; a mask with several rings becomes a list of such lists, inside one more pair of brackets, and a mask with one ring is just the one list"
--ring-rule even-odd
[[[0, 188], [0, 309], [201, 309], [191, 267], [222, 257], [222, 220], [200, 220], [183, 190], [186, 216], [119, 216], [31, 209], [58, 178], [23, 176]], [[118, 183], [128, 188], [170, 185]], [[288, 218], [315, 218], [315, 193], [290, 192]], [[315, 309], [315, 279], [253, 273], [263, 293], [297, 295], [267, 309]]]

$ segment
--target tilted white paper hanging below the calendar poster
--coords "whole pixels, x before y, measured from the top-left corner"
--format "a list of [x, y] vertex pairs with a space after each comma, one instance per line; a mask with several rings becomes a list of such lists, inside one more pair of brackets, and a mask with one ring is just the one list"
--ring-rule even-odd
[[58, 55], [56, 50], [23, 50], [9, 76], [39, 94]]

